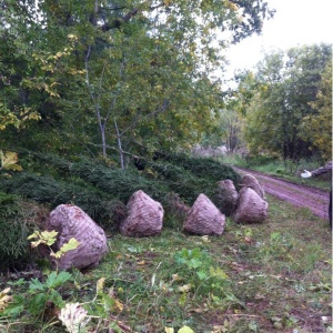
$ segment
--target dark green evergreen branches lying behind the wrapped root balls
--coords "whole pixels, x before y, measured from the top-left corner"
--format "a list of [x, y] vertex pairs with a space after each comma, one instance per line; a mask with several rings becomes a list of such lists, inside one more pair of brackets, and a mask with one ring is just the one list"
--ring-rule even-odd
[[36, 154], [36, 158], [40, 159], [34, 161], [38, 167], [30, 164], [30, 169], [39, 169], [43, 164], [44, 172], [51, 170], [54, 176], [24, 171], [14, 178], [0, 180], [2, 189], [48, 203], [50, 208], [61, 203], [77, 204], [108, 229], [115, 229], [125, 216], [125, 204], [138, 190], [165, 206], [170, 193], [176, 193], [185, 203], [192, 204], [202, 192], [214, 200], [216, 181], [231, 179], [236, 184], [240, 179], [230, 167], [214, 160], [181, 154], [147, 162], [147, 170], [142, 173], [133, 168], [109, 168], [89, 159], [70, 162], [54, 155]]

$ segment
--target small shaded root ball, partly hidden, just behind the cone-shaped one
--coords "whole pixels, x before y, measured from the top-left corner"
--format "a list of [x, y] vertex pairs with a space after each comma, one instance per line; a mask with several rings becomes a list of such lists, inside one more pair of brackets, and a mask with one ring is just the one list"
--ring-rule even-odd
[[229, 216], [235, 210], [239, 193], [234, 186], [233, 181], [230, 179], [219, 181], [218, 186], [219, 194], [216, 205], [223, 214]]

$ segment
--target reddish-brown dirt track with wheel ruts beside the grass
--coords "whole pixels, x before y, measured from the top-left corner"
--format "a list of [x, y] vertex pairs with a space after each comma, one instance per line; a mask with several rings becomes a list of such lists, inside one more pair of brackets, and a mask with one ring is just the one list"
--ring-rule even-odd
[[294, 184], [253, 170], [235, 168], [241, 174], [252, 174], [258, 179], [268, 194], [274, 195], [295, 206], [309, 208], [315, 215], [329, 219], [330, 193], [306, 185]]

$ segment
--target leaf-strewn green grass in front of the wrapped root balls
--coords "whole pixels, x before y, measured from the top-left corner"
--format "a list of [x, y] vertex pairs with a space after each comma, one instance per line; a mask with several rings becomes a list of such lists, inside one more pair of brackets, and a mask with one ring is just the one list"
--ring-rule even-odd
[[[101, 264], [74, 271], [74, 282], [61, 293], [68, 303], [88, 302], [89, 311], [118, 322], [122, 332], [178, 332], [184, 325], [196, 333], [331, 332], [331, 321], [325, 322], [332, 312], [329, 222], [271, 196], [269, 204], [264, 223], [228, 220], [221, 236], [167, 228], [155, 238], [114, 233]], [[113, 302], [107, 314], [95, 292], [101, 278]], [[0, 289], [9, 282], [10, 276], [1, 276]], [[12, 293], [24, 293], [24, 285], [11, 285]], [[0, 332], [13, 321], [10, 332], [64, 332], [50, 322], [33, 323], [28, 313], [0, 317]], [[98, 319], [88, 325], [97, 329], [98, 323], [98, 332], [108, 332]]]

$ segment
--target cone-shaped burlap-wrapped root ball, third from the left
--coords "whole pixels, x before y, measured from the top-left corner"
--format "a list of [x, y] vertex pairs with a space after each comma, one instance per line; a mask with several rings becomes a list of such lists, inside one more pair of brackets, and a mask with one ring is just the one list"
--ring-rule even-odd
[[188, 213], [183, 231], [202, 235], [221, 235], [224, 230], [225, 216], [201, 193]]

